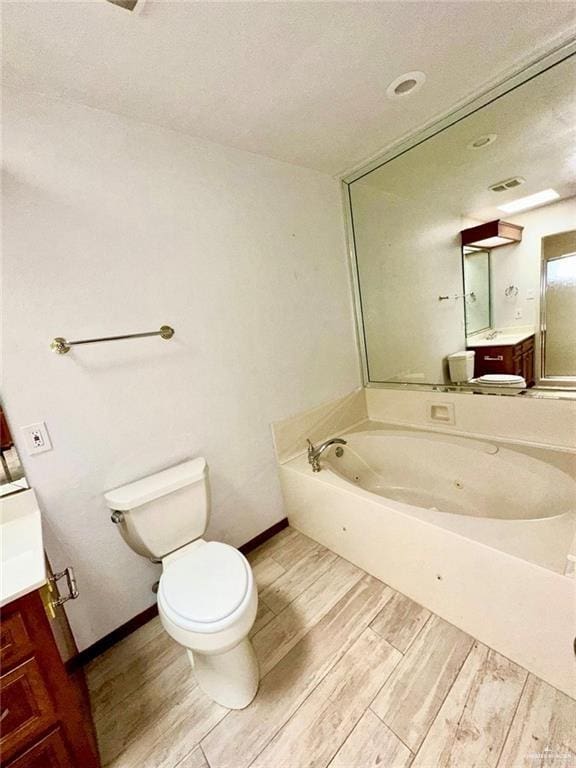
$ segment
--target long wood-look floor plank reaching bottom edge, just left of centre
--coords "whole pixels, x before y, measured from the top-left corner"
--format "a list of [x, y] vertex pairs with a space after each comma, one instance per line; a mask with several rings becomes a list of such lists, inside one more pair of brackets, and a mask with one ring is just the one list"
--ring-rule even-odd
[[366, 629], [251, 768], [325, 768], [401, 658]]

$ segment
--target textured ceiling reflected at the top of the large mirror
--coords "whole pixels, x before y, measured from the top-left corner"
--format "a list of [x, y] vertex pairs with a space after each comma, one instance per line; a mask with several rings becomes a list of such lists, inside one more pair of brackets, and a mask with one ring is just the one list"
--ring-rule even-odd
[[[494, 143], [470, 149], [475, 139]], [[512, 177], [521, 186], [494, 192]], [[532, 78], [481, 110], [352, 184], [378, 190], [396, 204], [416, 207], [442, 199], [463, 218], [514, 221], [497, 206], [553, 188], [576, 195], [576, 55]]]

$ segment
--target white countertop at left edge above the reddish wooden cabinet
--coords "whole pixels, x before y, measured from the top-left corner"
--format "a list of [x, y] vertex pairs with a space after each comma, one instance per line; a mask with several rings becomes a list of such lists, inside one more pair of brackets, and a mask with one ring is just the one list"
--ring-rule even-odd
[[34, 491], [0, 499], [0, 606], [46, 583], [42, 521]]

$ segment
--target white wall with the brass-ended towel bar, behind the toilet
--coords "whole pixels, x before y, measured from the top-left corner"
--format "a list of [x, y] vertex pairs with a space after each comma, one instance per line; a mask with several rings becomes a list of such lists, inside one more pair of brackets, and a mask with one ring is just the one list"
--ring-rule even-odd
[[[153, 602], [102, 494], [204, 455], [209, 538], [284, 516], [269, 424], [357, 387], [337, 182], [164, 129], [6, 92], [4, 380], [54, 566], [75, 566], [80, 648]], [[50, 351], [168, 323], [145, 339]], [[22, 444], [19, 448], [21, 453]]]

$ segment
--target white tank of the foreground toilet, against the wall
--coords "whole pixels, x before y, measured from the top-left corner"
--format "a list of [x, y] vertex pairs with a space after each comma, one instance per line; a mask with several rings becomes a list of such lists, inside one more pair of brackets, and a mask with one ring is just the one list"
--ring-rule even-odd
[[210, 513], [208, 467], [185, 461], [104, 494], [124, 540], [143, 557], [161, 560], [204, 535]]

